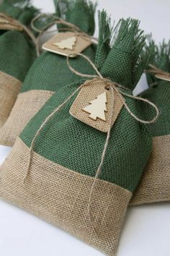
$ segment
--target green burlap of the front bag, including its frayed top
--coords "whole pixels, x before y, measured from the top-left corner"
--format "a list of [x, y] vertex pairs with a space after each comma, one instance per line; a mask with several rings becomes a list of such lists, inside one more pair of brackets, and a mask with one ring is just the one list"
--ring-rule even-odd
[[[133, 27], [133, 29], [130, 30], [130, 35], [128, 36], [127, 33], [124, 33], [125, 31], [127, 32], [127, 27], [128, 30], [130, 30], [129, 27]], [[125, 28], [125, 30], [123, 28]], [[135, 34], [134, 28], [136, 31]], [[120, 36], [121, 33], [122, 37]], [[138, 34], [140, 34], [140, 31], [138, 31], [138, 21], [122, 20], [120, 22], [120, 30], [117, 35], [117, 39], [110, 51], [107, 43], [105, 43], [105, 46], [104, 44], [102, 46], [102, 43], [99, 42], [102, 58], [105, 58], [107, 55], [106, 54], [104, 56], [104, 49], [107, 48], [107, 51], [105, 52], [109, 52], [106, 60], [100, 68], [100, 72], [104, 77], [109, 77], [112, 81], [119, 82], [121, 85], [127, 84], [130, 86], [133, 84], [132, 88], [136, 82], [138, 82], [134, 77], [138, 76], [139, 78], [140, 76], [136, 75], [134, 72], [133, 65], [127, 67], [128, 61], [129, 63], [133, 62], [134, 51], [130, 49], [130, 46], [133, 48], [134, 45], [137, 44], [137, 40], [142, 40], [143, 43], [143, 35], [140, 34], [139, 39]], [[100, 34], [99, 38], [102, 38], [102, 35]], [[109, 34], [105, 37], [105, 42], [108, 40], [108, 35]], [[120, 38], [121, 43], [119, 48], [122, 46], [122, 51], [117, 51], [117, 40], [120, 41]], [[140, 44], [139, 41], [138, 44]], [[128, 54], [129, 58], [125, 58], [125, 54], [128, 50], [131, 54]], [[115, 58], [118, 53], [120, 53], [119, 56]], [[97, 49], [97, 54], [100, 54], [99, 49]], [[56, 56], [56, 59], [58, 58], [61, 58], [61, 56]], [[100, 66], [99, 55], [96, 56], [96, 59], [97, 65]], [[135, 56], [134, 62], [136, 59], [138, 59], [137, 56]], [[71, 65], [74, 68], [75, 66], [73, 64], [76, 61], [79, 61], [79, 63], [82, 61], [84, 63], [83, 58], [81, 59], [79, 57], [78, 59], [74, 59], [71, 62]], [[94, 69], [92, 69], [89, 64], [84, 63], [83, 66], [79, 64], [79, 66], [76, 67], [79, 67], [77, 68], [79, 72], [94, 74]], [[115, 70], [118, 70], [118, 72], [115, 72]], [[137, 70], [138, 74], [139, 72], [136, 65], [135, 70]], [[71, 71], [69, 72], [71, 73]], [[72, 75], [75, 76], [75, 74]], [[65, 81], [67, 79], [66, 75], [61, 76], [60, 80], [63, 88], [58, 90], [58, 92], [50, 98], [50, 100], [42, 107], [39, 113], [32, 119], [32, 121], [30, 121], [30, 124], [28, 124], [22, 132], [21, 138], [29, 147], [37, 129], [42, 124], [42, 121], [44, 121], [47, 116], [64, 100], [66, 100], [68, 95], [70, 95], [83, 82], [80, 77], [79, 80], [66, 84]], [[48, 85], [51, 84], [51, 80], [53, 80], [53, 77], [50, 77]], [[45, 82], [47, 81], [44, 80], [44, 84]], [[58, 79], [58, 85], [60, 85], [59, 82], [60, 81]], [[69, 114], [69, 109], [71, 108], [71, 104], [75, 97], [73, 97], [71, 101], [53, 117], [53, 119], [48, 121], [48, 124], [45, 125], [42, 132], [37, 137], [34, 150], [50, 161], [59, 163], [60, 165], [78, 171], [81, 174], [94, 176], [101, 158], [106, 135], [87, 126], [81, 121], [76, 120]], [[137, 111], [136, 102], [130, 98], [126, 98], [126, 101], [131, 111], [140, 116], [140, 113]], [[148, 161], [150, 152], [151, 138], [148, 137], [146, 127], [130, 116], [125, 107], [123, 107], [114, 127], [112, 127], [112, 134], [109, 140], [107, 154], [104, 159], [100, 178], [113, 182], [133, 192], [135, 187], [138, 185], [138, 181], [143, 168]]]

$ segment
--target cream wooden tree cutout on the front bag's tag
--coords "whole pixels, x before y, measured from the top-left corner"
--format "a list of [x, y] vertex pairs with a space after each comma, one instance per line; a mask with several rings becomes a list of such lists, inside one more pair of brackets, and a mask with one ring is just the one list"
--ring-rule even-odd
[[96, 121], [98, 117], [102, 121], [106, 121], [105, 112], [107, 112], [107, 94], [102, 93], [98, 95], [95, 100], [90, 101], [89, 103], [90, 105], [82, 108], [83, 111], [90, 114], [89, 118]]

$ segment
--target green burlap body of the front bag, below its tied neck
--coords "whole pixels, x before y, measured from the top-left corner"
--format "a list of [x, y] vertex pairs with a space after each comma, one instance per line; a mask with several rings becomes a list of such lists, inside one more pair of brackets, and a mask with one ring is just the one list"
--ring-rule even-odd
[[[42, 121], [62, 103], [78, 85], [70, 85], [55, 93], [22, 132], [21, 138], [28, 146]], [[74, 98], [73, 98], [74, 99]], [[95, 176], [102, 155], [106, 135], [74, 119], [69, 114], [70, 101], [59, 114], [45, 125], [35, 143], [35, 152], [50, 161]], [[135, 104], [127, 100], [132, 111]], [[125, 108], [112, 128], [101, 179], [134, 191], [151, 152], [151, 138], [145, 127], [129, 116]]]

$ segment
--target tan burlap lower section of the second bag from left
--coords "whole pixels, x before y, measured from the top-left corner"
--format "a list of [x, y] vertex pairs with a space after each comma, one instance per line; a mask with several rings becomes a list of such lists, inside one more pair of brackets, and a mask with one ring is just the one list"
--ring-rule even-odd
[[0, 144], [14, 145], [22, 129], [37, 114], [37, 111], [42, 108], [51, 95], [53, 95], [53, 92], [46, 90], [30, 90], [27, 93], [20, 93], [9, 118], [0, 128]]

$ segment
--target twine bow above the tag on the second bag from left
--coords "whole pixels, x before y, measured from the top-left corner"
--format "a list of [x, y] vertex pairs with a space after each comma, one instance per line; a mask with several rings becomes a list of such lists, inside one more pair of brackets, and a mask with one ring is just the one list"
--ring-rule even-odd
[[[53, 21], [49, 22], [47, 25], [45, 25], [44, 27], [42, 27], [41, 29], [37, 28], [35, 26], [35, 22], [37, 20], [39, 20], [40, 18], [43, 17], [52, 17]], [[48, 29], [50, 29], [50, 27], [53, 27], [53, 25], [55, 24], [61, 24], [61, 25], [65, 25], [66, 27], [62, 27], [62, 28], [58, 28], [57, 30], [50, 30], [47, 31]], [[39, 45], [40, 42], [40, 37], [44, 34], [44, 33], [52, 33], [55, 31], [67, 31], [67, 32], [73, 32], [76, 34], [76, 36], [81, 36], [84, 39], [88, 39], [88, 40], [93, 40], [93, 43], [97, 43], [97, 38], [94, 38], [90, 35], [88, 35], [87, 33], [84, 33], [80, 27], [77, 27], [76, 25], [74, 25], [73, 23], [70, 22], [66, 22], [66, 20], [61, 19], [61, 17], [56, 16], [55, 14], [37, 14], [37, 16], [35, 16], [32, 21], [31, 21], [31, 27], [32, 30], [35, 30], [37, 33], [39, 33], [39, 35], [37, 36], [37, 45]]]

